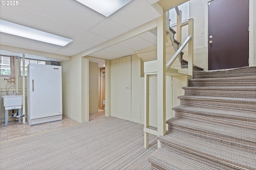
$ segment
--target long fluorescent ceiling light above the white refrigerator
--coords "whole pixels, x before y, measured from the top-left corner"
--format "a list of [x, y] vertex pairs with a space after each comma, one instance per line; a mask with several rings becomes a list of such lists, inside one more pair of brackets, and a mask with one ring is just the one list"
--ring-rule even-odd
[[29, 38], [32, 40], [37, 40], [40, 42], [52, 43], [55, 45], [65, 46], [73, 40], [64, 38], [61, 36], [56, 36], [47, 32], [36, 30], [33, 28], [21, 26], [19, 24], [14, 24], [5, 20], [0, 20], [0, 32], [7, 34], [12, 34], [15, 36], [20, 36], [24, 38]]

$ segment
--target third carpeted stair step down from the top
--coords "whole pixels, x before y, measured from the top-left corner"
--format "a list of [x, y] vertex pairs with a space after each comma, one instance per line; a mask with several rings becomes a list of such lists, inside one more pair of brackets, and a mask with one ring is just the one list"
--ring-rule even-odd
[[256, 98], [256, 86], [243, 87], [182, 87], [185, 95]]

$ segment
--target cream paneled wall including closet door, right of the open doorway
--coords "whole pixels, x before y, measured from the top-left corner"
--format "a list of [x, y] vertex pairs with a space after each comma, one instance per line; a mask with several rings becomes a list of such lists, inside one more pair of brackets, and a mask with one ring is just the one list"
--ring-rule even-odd
[[110, 61], [110, 114], [140, 123], [140, 71], [137, 55]]

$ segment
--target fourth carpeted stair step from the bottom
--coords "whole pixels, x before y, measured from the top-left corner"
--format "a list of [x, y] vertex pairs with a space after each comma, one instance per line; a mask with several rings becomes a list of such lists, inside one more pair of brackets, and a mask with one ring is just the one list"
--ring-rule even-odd
[[[241, 117], [240, 112], [233, 112], [233, 113], [231, 112], [232, 115], [228, 115], [230, 116], [228, 117], [226, 116], [226, 111], [220, 110], [220, 109], [218, 109], [218, 111], [216, 111], [216, 109], [211, 109], [211, 111], [209, 111], [209, 109], [200, 108], [200, 107], [198, 108], [180, 107], [180, 108], [174, 108], [174, 110], [175, 110], [175, 117], [200, 120], [208, 123], [216, 123], [220, 125], [229, 125], [233, 127], [256, 130], [256, 114], [255, 113], [251, 113], [251, 114], [244, 113], [246, 115], [251, 115], [252, 117], [245, 117], [245, 116]], [[221, 115], [219, 115], [218, 113], [220, 113]]]

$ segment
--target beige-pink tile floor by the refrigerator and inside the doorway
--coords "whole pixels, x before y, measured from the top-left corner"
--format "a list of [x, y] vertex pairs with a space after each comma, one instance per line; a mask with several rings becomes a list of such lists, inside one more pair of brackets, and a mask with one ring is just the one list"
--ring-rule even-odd
[[[105, 116], [105, 111], [100, 111], [90, 115], [89, 120], [96, 119], [98, 117]], [[70, 119], [66, 116], [62, 117], [62, 121], [54, 121], [49, 123], [44, 123], [40, 125], [30, 126], [28, 123], [26, 125], [19, 124], [18, 121], [8, 122], [8, 126], [4, 127], [4, 123], [1, 123], [1, 133], [0, 142], [5, 142], [8, 140], [14, 140], [34, 134], [39, 134], [51, 130], [56, 130], [58, 128], [69, 127], [72, 125], [79, 124], [77, 121]]]

